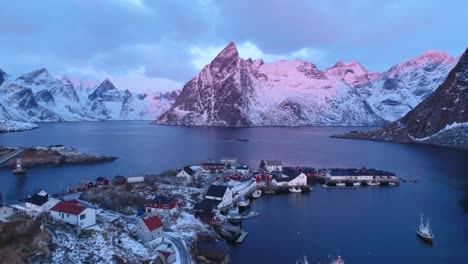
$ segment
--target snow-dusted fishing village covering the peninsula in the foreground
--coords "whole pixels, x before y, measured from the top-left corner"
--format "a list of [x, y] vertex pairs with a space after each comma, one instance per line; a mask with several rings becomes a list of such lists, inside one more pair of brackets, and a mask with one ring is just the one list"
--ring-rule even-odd
[[158, 175], [85, 180], [55, 195], [39, 190], [4, 202], [0, 220], [35, 223], [31, 247], [37, 252], [23, 252], [32, 263], [230, 263], [228, 243], [247, 239], [242, 222], [261, 217], [250, 203], [262, 195], [399, 182], [375, 169], [287, 167], [279, 160], [249, 168], [223, 158]]

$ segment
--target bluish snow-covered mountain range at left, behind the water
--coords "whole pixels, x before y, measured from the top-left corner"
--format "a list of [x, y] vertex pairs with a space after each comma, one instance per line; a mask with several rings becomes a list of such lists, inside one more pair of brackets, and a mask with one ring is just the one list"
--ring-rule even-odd
[[56, 79], [46, 69], [10, 78], [0, 72], [0, 120], [25, 122], [154, 120], [175, 101], [174, 94], [134, 94], [101, 84]]

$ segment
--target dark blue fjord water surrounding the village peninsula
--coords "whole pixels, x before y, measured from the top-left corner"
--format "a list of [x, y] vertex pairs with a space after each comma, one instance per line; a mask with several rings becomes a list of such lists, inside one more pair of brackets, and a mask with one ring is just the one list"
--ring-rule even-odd
[[[99, 176], [157, 173], [209, 158], [236, 156], [251, 166], [261, 159], [315, 167], [375, 167], [417, 179], [392, 188], [323, 189], [262, 197], [262, 216], [246, 221], [248, 238], [231, 248], [233, 263], [310, 262], [340, 254], [346, 263], [468, 263], [468, 215], [459, 204], [468, 184], [465, 152], [418, 145], [329, 138], [350, 128], [186, 128], [146, 122], [41, 124], [1, 134], [0, 145], [65, 144], [117, 156], [112, 163], [31, 169], [23, 177], [0, 170], [1, 191], [24, 197], [37, 188]], [[353, 128], [354, 130], [354, 128]], [[431, 217], [434, 246], [416, 238], [419, 214]]]

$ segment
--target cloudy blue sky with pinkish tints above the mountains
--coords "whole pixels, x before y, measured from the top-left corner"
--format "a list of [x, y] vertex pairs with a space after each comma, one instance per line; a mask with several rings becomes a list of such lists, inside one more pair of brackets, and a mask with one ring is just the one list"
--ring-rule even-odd
[[118, 88], [181, 88], [230, 41], [243, 58], [357, 60], [385, 71], [426, 50], [468, 47], [466, 0], [4, 1], [0, 68]]

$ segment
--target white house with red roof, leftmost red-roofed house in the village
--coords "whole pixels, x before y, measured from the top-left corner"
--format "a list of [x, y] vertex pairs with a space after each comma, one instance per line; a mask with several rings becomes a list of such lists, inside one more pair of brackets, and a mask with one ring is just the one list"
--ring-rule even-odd
[[80, 228], [96, 224], [96, 210], [78, 204], [78, 201], [61, 201], [50, 209], [51, 217]]

